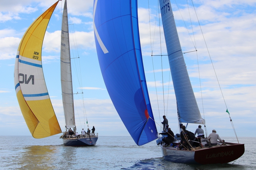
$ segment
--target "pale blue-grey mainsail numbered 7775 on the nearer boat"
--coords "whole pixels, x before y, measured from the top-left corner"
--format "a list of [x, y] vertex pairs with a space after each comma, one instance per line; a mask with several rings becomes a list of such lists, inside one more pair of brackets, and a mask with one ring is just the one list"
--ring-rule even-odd
[[196, 98], [188, 77], [188, 71], [181, 51], [180, 40], [169, 0], [159, 0], [165, 43], [172, 74], [180, 122], [205, 124], [198, 109]]

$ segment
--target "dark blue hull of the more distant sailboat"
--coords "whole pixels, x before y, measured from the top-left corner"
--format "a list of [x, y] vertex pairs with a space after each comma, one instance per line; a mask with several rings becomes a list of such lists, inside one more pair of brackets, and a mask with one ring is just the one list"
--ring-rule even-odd
[[64, 146], [94, 146], [98, 137], [63, 139]]

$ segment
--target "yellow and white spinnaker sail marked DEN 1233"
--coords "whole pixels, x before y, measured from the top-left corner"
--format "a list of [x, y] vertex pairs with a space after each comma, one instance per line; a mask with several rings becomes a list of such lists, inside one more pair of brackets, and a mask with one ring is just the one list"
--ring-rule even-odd
[[22, 115], [34, 138], [61, 133], [44, 81], [41, 59], [44, 34], [58, 2], [28, 27], [20, 41], [15, 60], [16, 95]]

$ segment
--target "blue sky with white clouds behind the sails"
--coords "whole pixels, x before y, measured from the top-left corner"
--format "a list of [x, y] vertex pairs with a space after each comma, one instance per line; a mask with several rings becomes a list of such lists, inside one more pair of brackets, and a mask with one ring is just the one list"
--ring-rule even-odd
[[[55, 2], [0, 1], [0, 127], [5, 130], [5, 135], [31, 135], [15, 94], [15, 56], [28, 26]], [[256, 1], [194, 0], [194, 7], [191, 1], [188, 4], [186, 0], [176, 2], [171, 0], [182, 51], [194, 51], [195, 46], [197, 49], [197, 53], [186, 53], [184, 58], [199, 110], [206, 120], [208, 134], [215, 129], [220, 137], [235, 136], [226, 112], [228, 108], [237, 136], [255, 137]], [[60, 86], [63, 6], [64, 1], [60, 1], [53, 12], [42, 48], [44, 78], [62, 131], [65, 130]], [[140, 43], [156, 127], [160, 131], [158, 124], [163, 121], [162, 116], [166, 115], [174, 134], [179, 133], [168, 59], [163, 56], [161, 61], [160, 56], [151, 57], [152, 51], [153, 55], [166, 54], [158, 4], [156, 0], [139, 0], [138, 7]], [[71, 53], [74, 58], [79, 56], [79, 60], [72, 60], [73, 90], [76, 93], [83, 89], [86, 110], [85, 115], [80, 105], [81, 98], [74, 95], [76, 126], [78, 131], [87, 128], [84, 123], [87, 118], [89, 128], [95, 126], [99, 136], [129, 136], [102, 79], [94, 41], [92, 8], [92, 0], [68, 1], [70, 37], [74, 38], [71, 38], [70, 43], [71, 46], [76, 44], [78, 49], [78, 53], [75, 50]], [[74, 76], [79, 70], [82, 82]], [[194, 132], [197, 126], [189, 124], [188, 130]]]

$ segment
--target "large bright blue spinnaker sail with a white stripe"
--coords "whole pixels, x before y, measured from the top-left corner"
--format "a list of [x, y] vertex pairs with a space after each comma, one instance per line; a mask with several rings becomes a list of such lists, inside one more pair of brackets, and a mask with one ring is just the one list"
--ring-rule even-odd
[[101, 73], [117, 113], [137, 145], [155, 140], [158, 134], [142, 62], [137, 0], [94, 0], [93, 27]]

